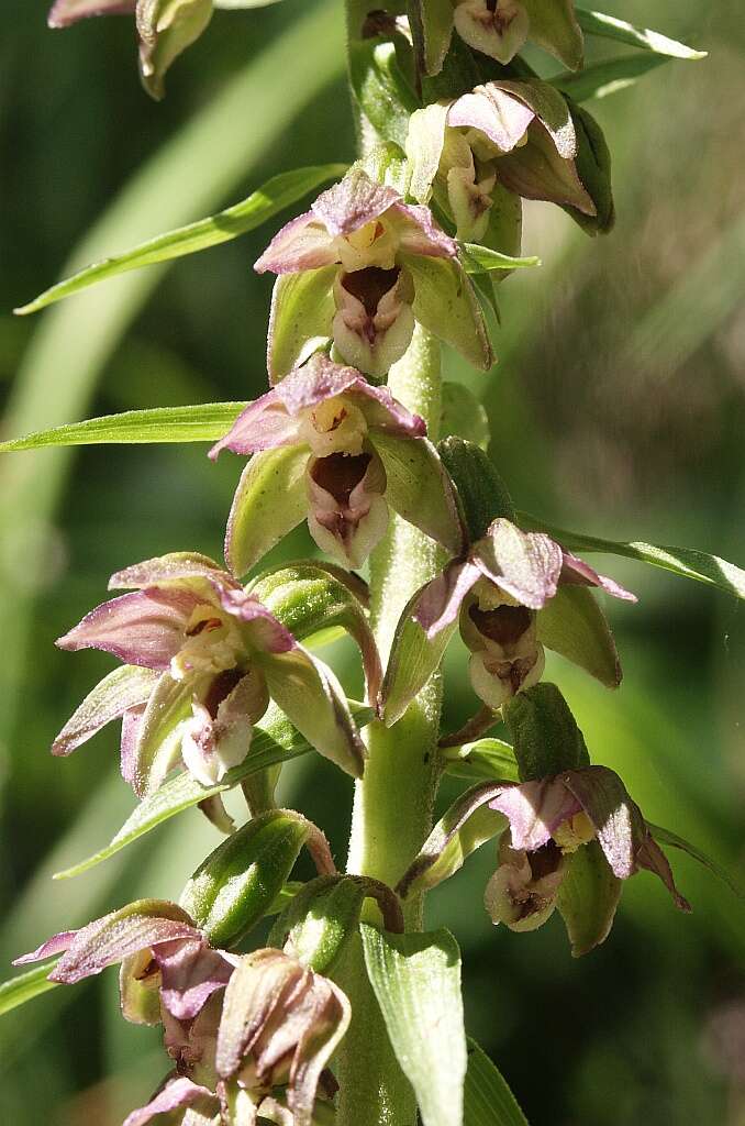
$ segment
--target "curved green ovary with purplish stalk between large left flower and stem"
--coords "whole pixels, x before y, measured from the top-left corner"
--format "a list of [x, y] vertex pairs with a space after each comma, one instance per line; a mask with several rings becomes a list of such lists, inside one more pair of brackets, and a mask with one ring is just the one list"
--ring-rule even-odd
[[349, 633], [360, 649], [368, 699], [375, 701], [383, 679], [375, 637], [356, 595], [342, 581], [343, 572], [339, 569], [336, 574], [322, 564], [295, 563], [261, 577], [251, 586], [251, 593], [297, 641], [326, 629]]

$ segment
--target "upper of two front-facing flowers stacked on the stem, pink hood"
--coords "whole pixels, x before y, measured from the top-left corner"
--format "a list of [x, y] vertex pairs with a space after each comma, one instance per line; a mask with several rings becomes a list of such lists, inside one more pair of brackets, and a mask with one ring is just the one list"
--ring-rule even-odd
[[457, 243], [427, 207], [354, 166], [255, 263], [279, 275], [269, 323], [272, 383], [333, 338], [343, 359], [376, 377], [406, 351], [419, 321], [476, 367], [493, 363]]

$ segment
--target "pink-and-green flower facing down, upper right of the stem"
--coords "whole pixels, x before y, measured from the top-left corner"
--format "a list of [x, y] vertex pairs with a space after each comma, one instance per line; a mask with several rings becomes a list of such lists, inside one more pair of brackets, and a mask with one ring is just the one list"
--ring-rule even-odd
[[427, 203], [437, 185], [464, 241], [519, 252], [521, 198], [598, 215], [577, 171], [567, 102], [538, 79], [487, 82], [416, 110], [406, 150], [412, 195]]

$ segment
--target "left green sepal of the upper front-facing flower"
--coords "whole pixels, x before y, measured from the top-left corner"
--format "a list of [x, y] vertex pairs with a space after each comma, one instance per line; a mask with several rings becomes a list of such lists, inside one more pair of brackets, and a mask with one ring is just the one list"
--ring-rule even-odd
[[269, 382], [278, 383], [331, 339], [335, 266], [282, 274], [275, 282], [267, 337]]

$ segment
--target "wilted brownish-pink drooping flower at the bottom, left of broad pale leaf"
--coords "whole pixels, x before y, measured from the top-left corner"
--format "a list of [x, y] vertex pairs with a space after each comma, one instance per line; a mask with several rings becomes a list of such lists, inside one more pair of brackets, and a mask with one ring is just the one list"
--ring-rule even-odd
[[[225, 991], [217, 1036], [223, 1107], [249, 1111], [285, 1088], [295, 1126], [309, 1126], [326, 1063], [349, 1026], [339, 986], [279, 950], [242, 957]], [[253, 1110], [255, 1115], [257, 1110]], [[237, 1116], [236, 1116], [237, 1117]]]

